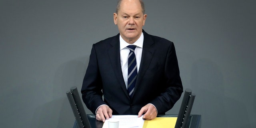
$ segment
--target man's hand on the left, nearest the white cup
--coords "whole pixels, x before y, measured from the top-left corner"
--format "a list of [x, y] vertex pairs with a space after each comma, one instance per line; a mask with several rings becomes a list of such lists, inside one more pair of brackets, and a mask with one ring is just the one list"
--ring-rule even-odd
[[110, 109], [106, 105], [100, 106], [96, 112], [96, 120], [105, 122], [106, 119], [109, 119], [112, 117], [112, 109]]

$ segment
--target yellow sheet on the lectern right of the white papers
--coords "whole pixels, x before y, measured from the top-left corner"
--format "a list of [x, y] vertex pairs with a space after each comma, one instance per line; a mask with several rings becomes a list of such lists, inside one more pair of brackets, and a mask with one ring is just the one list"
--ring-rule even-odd
[[143, 128], [174, 128], [177, 117], [156, 117], [154, 120], [145, 120]]

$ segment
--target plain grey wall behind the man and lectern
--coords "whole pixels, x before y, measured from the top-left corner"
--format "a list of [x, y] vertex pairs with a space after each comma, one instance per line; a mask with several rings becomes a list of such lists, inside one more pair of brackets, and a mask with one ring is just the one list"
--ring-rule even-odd
[[[92, 44], [118, 33], [116, 0], [0, 1], [0, 127], [71, 128]], [[203, 128], [256, 127], [254, 0], [145, 0], [144, 30], [174, 42]], [[182, 99], [182, 98], [181, 98]], [[167, 114], [178, 114], [181, 100]], [[88, 114], [92, 114], [86, 108]]]

